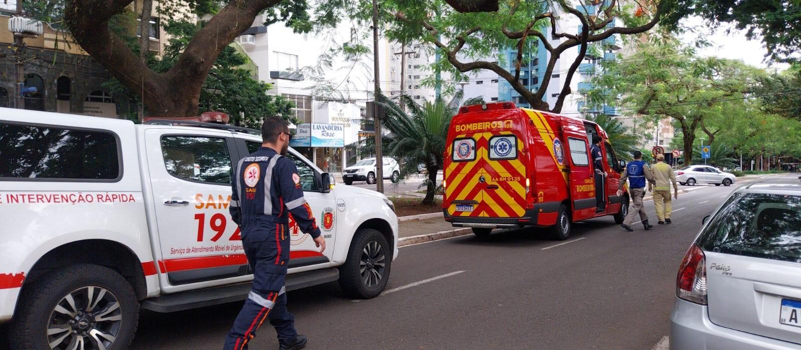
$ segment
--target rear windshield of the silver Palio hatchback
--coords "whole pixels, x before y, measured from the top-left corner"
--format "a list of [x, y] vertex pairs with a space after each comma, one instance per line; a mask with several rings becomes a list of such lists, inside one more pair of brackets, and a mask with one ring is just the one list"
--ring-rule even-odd
[[801, 197], [737, 195], [698, 237], [698, 245], [716, 253], [801, 262]]

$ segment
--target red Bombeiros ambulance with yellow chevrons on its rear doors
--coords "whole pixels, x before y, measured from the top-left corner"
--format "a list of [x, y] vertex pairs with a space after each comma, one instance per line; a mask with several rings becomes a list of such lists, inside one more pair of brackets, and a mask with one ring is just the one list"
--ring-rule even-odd
[[[602, 137], [606, 209], [596, 211], [590, 142]], [[629, 197], [616, 195], [620, 173], [606, 132], [592, 121], [512, 102], [462, 107], [453, 117], [445, 150], [445, 221], [477, 236], [497, 228], [540, 226], [553, 238], [570, 236], [571, 223], [626, 217]]]

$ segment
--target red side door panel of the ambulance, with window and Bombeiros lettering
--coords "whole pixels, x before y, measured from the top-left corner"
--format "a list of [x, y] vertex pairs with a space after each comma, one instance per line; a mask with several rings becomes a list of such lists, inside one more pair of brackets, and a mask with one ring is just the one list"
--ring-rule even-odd
[[584, 126], [563, 119], [562, 134], [566, 139], [569, 154], [570, 203], [573, 205], [573, 220], [580, 221], [595, 216], [595, 180], [590, 166], [590, 142]]

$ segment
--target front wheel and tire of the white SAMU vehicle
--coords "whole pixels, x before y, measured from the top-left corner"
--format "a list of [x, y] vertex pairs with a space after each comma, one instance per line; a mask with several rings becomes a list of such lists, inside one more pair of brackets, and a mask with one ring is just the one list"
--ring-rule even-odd
[[350, 298], [376, 297], [387, 286], [391, 265], [392, 251], [384, 235], [376, 229], [360, 229], [340, 266], [340, 287]]

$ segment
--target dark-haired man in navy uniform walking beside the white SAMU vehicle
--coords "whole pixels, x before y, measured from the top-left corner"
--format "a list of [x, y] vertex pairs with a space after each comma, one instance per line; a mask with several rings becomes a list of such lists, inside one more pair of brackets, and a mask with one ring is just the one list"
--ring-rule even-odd
[[231, 217], [242, 233], [253, 270], [253, 288], [225, 338], [225, 350], [247, 349], [265, 319], [278, 332], [280, 350], [304, 348], [307, 339], [295, 330], [284, 288], [289, 261], [288, 214], [314, 238], [320, 253], [325, 250], [325, 238], [303, 197], [295, 163], [284, 157], [292, 136], [287, 122], [268, 117], [261, 134], [264, 143], [239, 161], [231, 181]]

